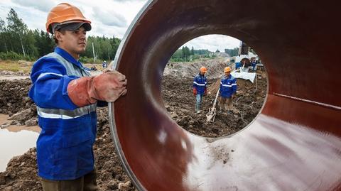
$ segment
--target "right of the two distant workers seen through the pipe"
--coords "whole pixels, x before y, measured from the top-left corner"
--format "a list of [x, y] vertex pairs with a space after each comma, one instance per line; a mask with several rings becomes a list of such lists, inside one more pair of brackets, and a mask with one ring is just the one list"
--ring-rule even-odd
[[231, 75], [231, 67], [224, 68], [225, 75], [220, 81], [220, 111], [232, 109], [232, 99], [237, 92], [236, 79]]

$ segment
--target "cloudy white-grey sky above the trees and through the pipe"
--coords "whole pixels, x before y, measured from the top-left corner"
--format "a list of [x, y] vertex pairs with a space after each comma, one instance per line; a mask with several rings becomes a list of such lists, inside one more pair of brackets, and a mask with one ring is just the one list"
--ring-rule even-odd
[[[123, 38], [126, 29], [146, 0], [1, 0], [0, 17], [6, 21], [7, 13], [13, 8], [28, 28], [45, 31], [48, 11], [62, 2], [77, 6], [83, 15], [92, 21], [89, 36], [115, 36]], [[185, 43], [189, 48], [211, 51], [236, 48], [239, 40], [228, 36], [201, 36]]]

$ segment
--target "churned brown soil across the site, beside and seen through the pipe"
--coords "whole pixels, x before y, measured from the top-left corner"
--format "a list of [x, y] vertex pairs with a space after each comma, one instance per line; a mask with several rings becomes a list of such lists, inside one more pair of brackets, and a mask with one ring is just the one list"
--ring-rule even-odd
[[[195, 63], [191, 70], [186, 69], [186, 72], [181, 69], [183, 67], [177, 67], [177, 65], [172, 68], [166, 67], [161, 92], [168, 114], [183, 129], [198, 136], [227, 136], [243, 129], [259, 114], [264, 103], [267, 89], [266, 73], [257, 71], [254, 83], [238, 79], [238, 92], [233, 101], [235, 109], [229, 112], [218, 112], [215, 121], [208, 124], [205, 122], [205, 114], [212, 107], [220, 84], [219, 76], [227, 64], [217, 61], [212, 66], [207, 66], [209, 70], [210, 67], [215, 68], [216, 72], [207, 74], [210, 94], [203, 99], [202, 113], [195, 114], [192, 83], [193, 76], [200, 65], [205, 65], [205, 63]], [[177, 71], [180, 71], [181, 75], [177, 74]], [[28, 79], [0, 81], [0, 113], [12, 116], [18, 111], [31, 109], [29, 117], [36, 117], [36, 107], [28, 98], [30, 87], [31, 81]], [[107, 108], [97, 109], [97, 114], [98, 131], [94, 155], [99, 190], [136, 190], [114, 149]], [[25, 120], [18, 121], [22, 123]], [[15, 143], [9, 143], [9, 146], [11, 144]], [[23, 155], [10, 160], [6, 171], [0, 173], [0, 190], [42, 190], [40, 178], [37, 175], [36, 148], [31, 148]]]

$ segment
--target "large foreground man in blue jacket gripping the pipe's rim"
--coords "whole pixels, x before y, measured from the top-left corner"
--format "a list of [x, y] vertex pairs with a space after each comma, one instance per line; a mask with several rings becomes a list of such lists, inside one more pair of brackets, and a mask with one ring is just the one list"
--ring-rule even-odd
[[32, 68], [29, 97], [37, 105], [41, 128], [37, 141], [38, 175], [43, 190], [97, 190], [92, 146], [96, 107], [126, 94], [126, 77], [114, 70], [90, 77], [79, 62], [91, 22], [80, 9], [58, 4], [46, 29], [57, 47]]

